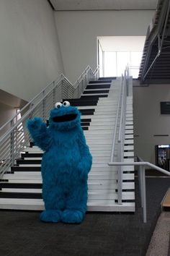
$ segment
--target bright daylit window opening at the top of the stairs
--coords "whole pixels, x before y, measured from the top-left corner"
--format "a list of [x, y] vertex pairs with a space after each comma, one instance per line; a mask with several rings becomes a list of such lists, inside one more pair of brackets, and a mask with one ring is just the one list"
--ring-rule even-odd
[[100, 76], [120, 77], [128, 65], [130, 75], [138, 78], [144, 36], [99, 37], [98, 39]]

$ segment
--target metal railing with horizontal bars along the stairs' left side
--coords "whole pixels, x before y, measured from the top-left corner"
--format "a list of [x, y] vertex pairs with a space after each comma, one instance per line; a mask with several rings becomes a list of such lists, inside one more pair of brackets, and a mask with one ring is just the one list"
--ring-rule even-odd
[[89, 80], [96, 80], [99, 66], [93, 72], [91, 67], [86, 67], [74, 84], [61, 74], [57, 80], [50, 82], [35, 98], [27, 103], [17, 114], [7, 121], [1, 128], [0, 137], [0, 179], [6, 171], [11, 171], [16, 158], [30, 142], [30, 135], [26, 128], [27, 119], [40, 116], [43, 121], [48, 119], [48, 114], [56, 101], [66, 98], [79, 98]]

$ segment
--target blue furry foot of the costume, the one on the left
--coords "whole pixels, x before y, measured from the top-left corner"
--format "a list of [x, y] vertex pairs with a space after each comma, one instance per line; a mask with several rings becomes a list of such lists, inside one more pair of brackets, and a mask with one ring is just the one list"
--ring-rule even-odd
[[40, 214], [40, 220], [44, 222], [55, 222], [61, 221], [61, 210], [44, 210]]

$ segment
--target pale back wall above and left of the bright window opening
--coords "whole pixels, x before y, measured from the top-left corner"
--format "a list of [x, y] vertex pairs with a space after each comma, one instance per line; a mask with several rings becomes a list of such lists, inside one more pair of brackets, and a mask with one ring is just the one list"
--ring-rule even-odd
[[97, 66], [97, 36], [146, 35], [153, 11], [55, 12], [66, 77]]

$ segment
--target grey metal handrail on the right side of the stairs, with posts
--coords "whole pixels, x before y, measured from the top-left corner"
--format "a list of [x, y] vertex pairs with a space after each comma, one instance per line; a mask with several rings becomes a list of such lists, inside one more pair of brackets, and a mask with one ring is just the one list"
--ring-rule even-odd
[[125, 144], [125, 114], [127, 95], [129, 92], [129, 72], [125, 69], [124, 77], [121, 78], [120, 98], [117, 104], [117, 115], [115, 119], [115, 131], [112, 141], [112, 153], [109, 166], [117, 166], [117, 199], [118, 204], [122, 204], [122, 167], [123, 166], [138, 166], [138, 181], [141, 197], [141, 206], [143, 208], [143, 222], [147, 222], [146, 216], [146, 166], [161, 171], [161, 173], [170, 176], [170, 172], [155, 166], [153, 163], [145, 162], [138, 157], [138, 161], [124, 162], [124, 144]]

